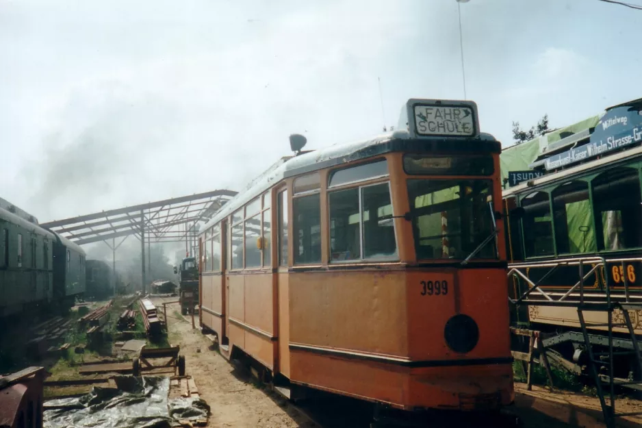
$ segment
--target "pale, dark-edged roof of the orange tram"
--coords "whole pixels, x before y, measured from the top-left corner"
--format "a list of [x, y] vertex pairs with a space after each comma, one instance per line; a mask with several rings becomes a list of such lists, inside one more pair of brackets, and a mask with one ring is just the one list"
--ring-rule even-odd
[[480, 132], [474, 138], [453, 140], [452, 137], [418, 138], [412, 136], [407, 129], [396, 129], [367, 140], [334, 144], [323, 149], [303, 152], [297, 156], [284, 156], [223, 205], [201, 229], [200, 234], [204, 234], [209, 227], [216, 225], [232, 212], [259, 197], [260, 194], [282, 179], [312, 173], [331, 166], [347, 165], [395, 151], [450, 151], [453, 153], [488, 151], [500, 153], [501, 144], [495, 137], [485, 132]]

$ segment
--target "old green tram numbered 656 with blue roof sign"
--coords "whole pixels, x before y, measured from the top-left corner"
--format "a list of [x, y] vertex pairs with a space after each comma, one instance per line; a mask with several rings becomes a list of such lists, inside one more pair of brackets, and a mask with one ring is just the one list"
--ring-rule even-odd
[[[577, 373], [587, 366], [587, 343], [604, 351], [611, 336], [614, 377], [642, 379], [629, 352], [636, 337], [642, 342], [642, 306], [635, 307], [642, 303], [641, 143], [637, 99], [502, 151], [511, 299], [532, 288], [531, 303], [512, 308], [513, 325], [543, 332], [544, 346]], [[587, 342], [572, 302], [605, 299], [632, 303], [634, 332], [622, 310], [611, 320], [585, 312]]]

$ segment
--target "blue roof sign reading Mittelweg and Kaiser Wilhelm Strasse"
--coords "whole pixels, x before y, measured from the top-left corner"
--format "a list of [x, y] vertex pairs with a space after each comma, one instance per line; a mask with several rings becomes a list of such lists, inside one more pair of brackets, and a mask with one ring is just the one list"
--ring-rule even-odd
[[547, 171], [582, 162], [642, 141], [642, 112], [630, 106], [617, 107], [602, 116], [588, 144], [553, 155], [545, 161]]

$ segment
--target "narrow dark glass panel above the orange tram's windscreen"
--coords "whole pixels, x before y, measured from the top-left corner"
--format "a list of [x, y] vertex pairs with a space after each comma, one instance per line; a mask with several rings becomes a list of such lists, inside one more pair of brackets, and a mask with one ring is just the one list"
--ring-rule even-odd
[[404, 155], [409, 175], [492, 175], [492, 156]]

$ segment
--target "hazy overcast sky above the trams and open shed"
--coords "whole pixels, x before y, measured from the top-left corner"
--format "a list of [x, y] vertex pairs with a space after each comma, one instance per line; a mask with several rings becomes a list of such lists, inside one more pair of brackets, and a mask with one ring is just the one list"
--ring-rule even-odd
[[[642, 11], [471, 0], [461, 21], [467, 98], [504, 144], [642, 97]], [[463, 98], [457, 22], [455, 0], [0, 0], [0, 196], [44, 222], [237, 190], [289, 134], [320, 148]]]

